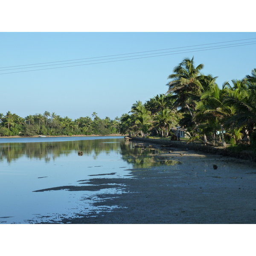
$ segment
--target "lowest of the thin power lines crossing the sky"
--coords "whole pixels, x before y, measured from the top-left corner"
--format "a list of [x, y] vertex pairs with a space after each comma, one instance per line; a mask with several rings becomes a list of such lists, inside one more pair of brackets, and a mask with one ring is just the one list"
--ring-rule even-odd
[[[190, 53], [190, 52], [201, 52], [201, 51], [207, 51], [207, 50], [214, 50], [214, 49], [223, 49], [223, 48], [231, 48], [231, 47], [239, 47], [239, 46], [247, 46], [247, 45], [251, 45], [251, 44], [256, 44], [256, 43], [245, 43], [243, 45], [233, 45], [233, 46], [226, 46], [226, 47], [218, 47], [218, 48], [213, 48], [213, 49], [203, 49], [203, 48], [209, 48], [209, 47], [201, 47], [198, 49], [201, 50], [192, 50], [189, 52], [176, 52], [176, 53], [169, 53], [169, 54], [163, 54], [163, 55], [155, 55], [155, 56], [146, 56], [146, 57], [139, 57], [139, 58], [128, 58], [128, 59], [122, 59], [122, 60], [115, 60], [115, 61], [102, 61], [102, 62], [96, 62], [96, 63], [87, 63], [87, 64], [79, 64], [79, 65], [71, 65], [71, 66], [65, 66], [65, 67], [77, 67], [77, 66], [85, 66], [85, 65], [92, 65], [92, 64], [102, 64], [102, 63], [109, 63], [109, 62], [116, 62], [116, 61], [128, 61], [128, 60], [134, 60], [134, 59], [141, 59], [141, 58], [152, 58], [152, 57], [159, 57], [159, 56], [166, 56], [166, 55], [175, 55], [175, 54], [181, 54], [181, 53]], [[189, 49], [188, 49], [189, 50]], [[183, 50], [184, 51], [184, 50]], [[159, 52], [160, 53], [160, 52]], [[158, 53], [157, 53], [158, 54]], [[134, 56], [130, 56], [130, 57], [134, 57]], [[104, 59], [103, 59], [104, 60]], [[105, 59], [107, 60], [107, 59]], [[99, 60], [97, 60], [99, 61]], [[81, 61], [83, 62], [83, 61]], [[66, 63], [68, 64], [68, 63]], [[72, 63], [71, 63], [72, 64]], [[60, 64], [56, 64], [56, 65], [60, 65]], [[50, 66], [50, 65], [46, 65], [46, 66]], [[32, 67], [30, 67], [32, 68]], [[23, 71], [15, 71], [15, 72], [8, 72], [8, 73], [1, 73], [0, 75], [4, 75], [4, 74], [12, 74], [12, 73], [22, 73], [22, 72], [30, 72], [30, 71], [38, 71], [38, 70], [49, 70], [49, 69], [56, 69], [56, 68], [64, 68], [64, 67], [50, 67], [50, 68], [44, 68], [44, 69], [36, 69], [36, 70], [23, 70]], [[1, 70], [4, 71], [4, 70]]]

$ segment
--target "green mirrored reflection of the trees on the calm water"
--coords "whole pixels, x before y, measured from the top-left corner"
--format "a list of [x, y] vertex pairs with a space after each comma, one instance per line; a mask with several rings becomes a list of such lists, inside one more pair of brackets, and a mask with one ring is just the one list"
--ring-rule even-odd
[[[54, 140], [54, 139], [53, 139]], [[134, 168], [148, 168], [160, 165], [175, 165], [178, 162], [169, 160], [166, 157], [158, 156], [163, 153], [161, 149], [135, 148], [136, 143], [116, 139], [98, 140], [73, 140], [61, 142], [31, 142], [31, 143], [0, 143], [0, 161], [8, 163], [27, 157], [28, 159], [44, 160], [46, 163], [58, 157], [68, 157], [73, 151], [79, 156], [93, 154], [96, 160], [100, 153], [110, 154], [111, 151], [119, 151], [122, 159], [132, 164]], [[82, 151], [83, 153], [79, 154]]]

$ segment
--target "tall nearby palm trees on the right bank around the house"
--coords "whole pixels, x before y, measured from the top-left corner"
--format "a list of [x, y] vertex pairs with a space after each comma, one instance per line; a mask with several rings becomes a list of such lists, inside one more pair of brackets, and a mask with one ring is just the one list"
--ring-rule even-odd
[[254, 140], [256, 128], [256, 69], [242, 80], [216, 84], [217, 77], [201, 73], [204, 64], [185, 58], [168, 79], [166, 95], [136, 102], [121, 117], [123, 134], [167, 136], [175, 125], [187, 128], [192, 139], [238, 143]]

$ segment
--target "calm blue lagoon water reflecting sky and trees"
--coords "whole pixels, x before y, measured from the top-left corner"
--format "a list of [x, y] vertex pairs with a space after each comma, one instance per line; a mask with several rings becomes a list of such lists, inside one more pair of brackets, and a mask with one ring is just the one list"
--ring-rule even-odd
[[123, 188], [35, 191], [90, 186], [81, 184], [81, 180], [131, 178], [133, 168], [176, 164], [157, 157], [161, 153], [157, 149], [141, 150], [133, 146], [118, 136], [1, 138], [0, 223], [58, 223], [61, 218], [97, 213], [102, 210], [93, 206], [99, 200], [97, 195], [119, 194]]

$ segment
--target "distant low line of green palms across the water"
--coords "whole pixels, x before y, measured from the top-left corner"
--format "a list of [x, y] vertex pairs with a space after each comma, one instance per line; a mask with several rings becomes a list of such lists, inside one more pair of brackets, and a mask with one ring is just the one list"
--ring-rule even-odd
[[10, 111], [3, 115], [0, 113], [0, 136], [35, 136], [35, 135], [91, 135], [115, 134], [119, 132], [119, 118], [111, 120], [99, 118], [93, 112], [89, 116], [80, 117], [73, 121], [68, 116], [61, 117], [54, 112], [45, 111], [43, 114], [29, 115], [25, 118], [12, 114]]

